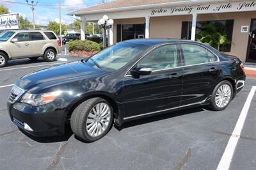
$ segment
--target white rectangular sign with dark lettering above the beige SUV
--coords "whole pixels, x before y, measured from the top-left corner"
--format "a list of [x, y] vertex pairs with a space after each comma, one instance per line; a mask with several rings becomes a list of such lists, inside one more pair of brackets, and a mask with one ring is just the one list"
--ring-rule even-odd
[[19, 14], [8, 13], [0, 15], [0, 30], [19, 29]]

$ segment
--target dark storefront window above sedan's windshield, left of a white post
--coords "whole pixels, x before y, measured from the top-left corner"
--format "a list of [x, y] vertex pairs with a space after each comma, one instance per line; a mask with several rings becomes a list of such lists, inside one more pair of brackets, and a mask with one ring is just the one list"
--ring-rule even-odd
[[122, 26], [123, 41], [145, 37], [145, 24], [124, 24]]

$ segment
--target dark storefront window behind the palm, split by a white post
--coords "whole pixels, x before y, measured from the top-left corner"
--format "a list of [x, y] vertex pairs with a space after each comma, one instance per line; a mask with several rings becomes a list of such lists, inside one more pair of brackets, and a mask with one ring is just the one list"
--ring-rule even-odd
[[[191, 22], [182, 22], [182, 39], [191, 38]], [[230, 52], [234, 20], [196, 22], [196, 41], [211, 45], [223, 52]]]

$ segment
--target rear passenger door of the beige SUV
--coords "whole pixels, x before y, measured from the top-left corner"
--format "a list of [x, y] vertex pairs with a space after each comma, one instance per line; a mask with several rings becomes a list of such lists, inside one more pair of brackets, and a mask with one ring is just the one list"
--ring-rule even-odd
[[30, 32], [29, 40], [32, 47], [33, 56], [41, 56], [43, 54], [44, 45], [46, 44], [45, 38], [40, 32]]

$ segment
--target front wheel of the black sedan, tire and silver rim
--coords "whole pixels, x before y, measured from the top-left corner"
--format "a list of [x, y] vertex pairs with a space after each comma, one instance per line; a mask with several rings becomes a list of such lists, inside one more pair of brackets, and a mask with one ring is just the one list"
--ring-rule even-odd
[[113, 108], [108, 101], [97, 97], [84, 101], [74, 109], [70, 126], [79, 139], [92, 143], [106, 135], [112, 123]]

